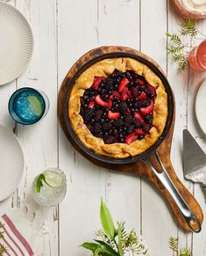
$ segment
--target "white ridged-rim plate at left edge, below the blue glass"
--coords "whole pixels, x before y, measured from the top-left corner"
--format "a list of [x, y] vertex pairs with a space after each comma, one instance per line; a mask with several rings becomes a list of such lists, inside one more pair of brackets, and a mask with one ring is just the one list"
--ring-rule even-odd
[[0, 201], [18, 187], [24, 171], [24, 155], [18, 138], [0, 125]]

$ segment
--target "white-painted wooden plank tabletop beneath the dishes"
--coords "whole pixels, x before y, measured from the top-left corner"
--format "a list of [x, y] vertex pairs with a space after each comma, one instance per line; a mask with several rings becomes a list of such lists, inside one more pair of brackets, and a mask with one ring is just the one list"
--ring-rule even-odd
[[[167, 240], [178, 237], [195, 256], [206, 255], [206, 224], [200, 234], [183, 232], [174, 222], [166, 202], [145, 179], [111, 172], [92, 165], [67, 142], [57, 119], [57, 96], [68, 69], [85, 52], [102, 45], [136, 48], [151, 56], [167, 73], [176, 100], [172, 146], [174, 168], [195, 194], [203, 211], [206, 206], [198, 185], [183, 179], [182, 129], [188, 128], [206, 150], [205, 135], [195, 120], [195, 94], [206, 73], [176, 70], [167, 56], [166, 32], [178, 29], [169, 0], [10, 0], [29, 20], [34, 34], [32, 62], [16, 81], [0, 88], [0, 123], [18, 135], [25, 152], [25, 174], [18, 191], [0, 203], [0, 214], [20, 207], [31, 189], [32, 179], [48, 167], [67, 174], [67, 196], [58, 208], [42, 208], [50, 233], [42, 238], [41, 255], [90, 255], [79, 245], [91, 241], [100, 227], [100, 197], [114, 220], [124, 219], [128, 228], [142, 234], [150, 255], [169, 256]], [[198, 22], [206, 31], [206, 21]], [[195, 43], [195, 42], [194, 42]], [[15, 126], [7, 104], [11, 93], [24, 86], [45, 91], [51, 107], [43, 121]], [[203, 111], [203, 110], [202, 110]], [[204, 110], [205, 111], [205, 110]]]

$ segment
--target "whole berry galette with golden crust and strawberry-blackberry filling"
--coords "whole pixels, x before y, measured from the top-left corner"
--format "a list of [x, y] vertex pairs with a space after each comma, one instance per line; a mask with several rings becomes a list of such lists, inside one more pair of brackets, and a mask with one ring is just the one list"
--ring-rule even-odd
[[77, 78], [68, 117], [82, 143], [97, 154], [141, 154], [162, 134], [167, 92], [153, 70], [132, 58], [96, 62]]

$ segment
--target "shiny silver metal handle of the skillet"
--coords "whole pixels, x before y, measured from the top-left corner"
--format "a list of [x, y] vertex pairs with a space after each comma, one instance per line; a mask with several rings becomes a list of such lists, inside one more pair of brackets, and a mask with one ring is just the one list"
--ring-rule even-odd
[[143, 158], [142, 161], [153, 170], [153, 173], [156, 175], [156, 177], [160, 179], [160, 182], [164, 185], [164, 187], [167, 188], [167, 191], [174, 199], [177, 207], [180, 209], [181, 216], [183, 217], [185, 222], [188, 224], [189, 228], [196, 233], [200, 232], [201, 231], [200, 221], [192, 212], [192, 210], [188, 207], [187, 202], [183, 199], [180, 192], [174, 186], [172, 179], [167, 174], [167, 170], [165, 169], [164, 165], [162, 165], [161, 163], [161, 160], [157, 151], [155, 151], [155, 157], [160, 165], [162, 172], [157, 172], [157, 170], [153, 167], [152, 163], [146, 157]]

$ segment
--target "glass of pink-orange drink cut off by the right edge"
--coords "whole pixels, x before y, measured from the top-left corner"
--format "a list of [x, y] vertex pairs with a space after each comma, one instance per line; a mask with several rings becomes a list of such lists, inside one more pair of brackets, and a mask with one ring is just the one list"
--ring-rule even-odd
[[202, 43], [193, 48], [188, 54], [189, 65], [197, 71], [206, 70], [206, 40], [202, 40]]

